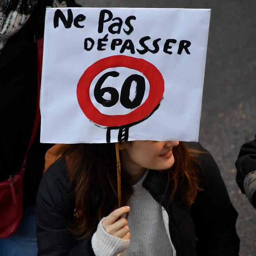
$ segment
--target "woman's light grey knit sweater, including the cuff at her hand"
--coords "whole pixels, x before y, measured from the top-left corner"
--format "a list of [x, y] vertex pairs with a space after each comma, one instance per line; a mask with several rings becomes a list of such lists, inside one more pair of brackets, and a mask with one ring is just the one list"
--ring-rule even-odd
[[131, 209], [127, 220], [130, 241], [106, 233], [102, 227], [103, 218], [92, 237], [92, 248], [96, 256], [172, 255], [168, 226], [165, 227], [163, 220], [163, 208], [142, 187], [147, 174], [148, 171], [133, 186], [134, 194], [128, 202]]

